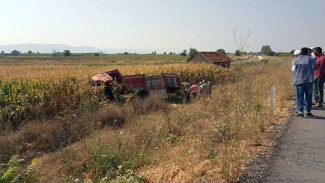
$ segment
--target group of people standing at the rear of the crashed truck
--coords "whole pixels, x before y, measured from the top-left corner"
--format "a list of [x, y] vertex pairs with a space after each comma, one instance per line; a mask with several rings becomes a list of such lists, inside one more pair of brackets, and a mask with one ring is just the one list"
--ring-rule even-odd
[[187, 80], [185, 82], [182, 82], [184, 85], [185, 90], [185, 97], [184, 102], [189, 103], [190, 102], [190, 94], [192, 94], [193, 100], [198, 100], [199, 98], [203, 98], [205, 96], [211, 95], [212, 92], [212, 82], [211, 81], [205, 81], [203, 80], [199, 84], [193, 83], [190, 84]]

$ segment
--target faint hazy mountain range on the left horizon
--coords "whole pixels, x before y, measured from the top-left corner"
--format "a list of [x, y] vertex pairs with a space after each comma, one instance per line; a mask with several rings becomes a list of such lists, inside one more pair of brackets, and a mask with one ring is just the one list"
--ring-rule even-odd
[[135, 50], [135, 49], [99, 49], [91, 46], [69, 46], [64, 44], [11, 44], [11, 45], [0, 45], [0, 51], [5, 51], [5, 53], [10, 53], [12, 50], [18, 50], [21, 53], [27, 53], [28, 50], [32, 52], [40, 52], [40, 53], [51, 53], [52, 50], [63, 52], [63, 50], [68, 50], [72, 53], [89, 53], [89, 52], [99, 52], [103, 53], [122, 53], [122, 52], [130, 52], [130, 53], [145, 53], [143, 50]]

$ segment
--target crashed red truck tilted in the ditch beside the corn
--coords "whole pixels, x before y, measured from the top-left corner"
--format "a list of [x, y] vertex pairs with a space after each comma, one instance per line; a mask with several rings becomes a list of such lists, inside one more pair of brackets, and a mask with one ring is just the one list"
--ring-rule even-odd
[[95, 86], [105, 85], [105, 95], [112, 98], [113, 81], [125, 83], [127, 86], [138, 90], [142, 95], [159, 95], [167, 99], [168, 93], [175, 93], [181, 89], [180, 78], [177, 74], [161, 73], [158, 76], [126, 75], [122, 76], [115, 69], [93, 76], [92, 83]]

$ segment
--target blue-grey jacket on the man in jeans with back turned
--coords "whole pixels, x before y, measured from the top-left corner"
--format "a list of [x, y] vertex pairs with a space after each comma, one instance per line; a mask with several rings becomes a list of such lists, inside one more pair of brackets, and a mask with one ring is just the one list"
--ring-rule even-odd
[[293, 84], [314, 82], [314, 64], [313, 60], [308, 55], [299, 55], [293, 60], [294, 77]]

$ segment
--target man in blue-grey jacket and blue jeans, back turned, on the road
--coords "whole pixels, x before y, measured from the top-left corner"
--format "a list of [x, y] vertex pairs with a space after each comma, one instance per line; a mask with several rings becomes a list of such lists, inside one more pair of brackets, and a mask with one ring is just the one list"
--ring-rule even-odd
[[304, 96], [306, 96], [306, 116], [311, 113], [314, 69], [311, 57], [307, 55], [308, 48], [301, 48], [301, 54], [293, 60], [294, 76], [293, 84], [297, 87], [297, 115], [304, 116]]

